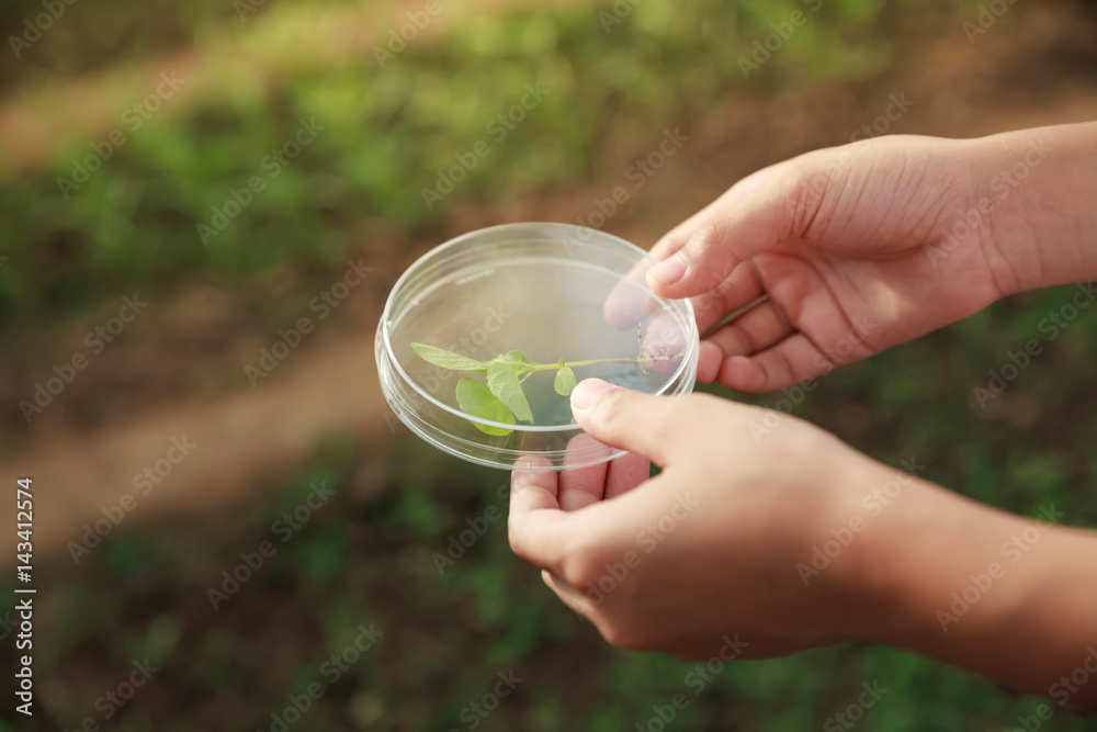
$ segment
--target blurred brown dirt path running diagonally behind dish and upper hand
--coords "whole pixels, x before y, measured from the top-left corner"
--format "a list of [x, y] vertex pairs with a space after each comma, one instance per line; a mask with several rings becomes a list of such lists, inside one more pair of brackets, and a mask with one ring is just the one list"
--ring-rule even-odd
[[[1083, 75], [1095, 66], [1085, 29], [1078, 31], [1042, 8], [1017, 12], [1025, 13], [1024, 21], [1008, 32], [989, 34], [973, 46], [958, 26], [935, 47], [917, 49], [916, 61], [897, 65], [911, 72], [860, 90], [834, 87], [736, 100], [688, 131], [691, 140], [680, 157], [606, 228], [647, 246], [736, 178], [804, 149], [847, 140], [883, 112], [892, 93], [905, 93], [915, 102], [891, 125], [892, 133], [962, 137], [1097, 119], [1097, 78]], [[647, 149], [641, 145], [634, 153]], [[606, 198], [623, 182], [627, 160], [635, 155], [622, 157], [619, 171], [606, 170], [593, 184], [465, 206], [451, 216], [439, 240], [505, 221], [575, 221], [592, 210], [596, 198]], [[396, 261], [388, 279], [414, 255], [410, 248], [389, 252]], [[0, 485], [13, 486], [27, 474], [34, 477], [39, 555], [64, 553], [67, 542], [80, 540], [84, 523], [103, 518], [104, 509], [117, 515], [112, 507], [125, 494], [136, 494], [126, 521], [169, 511], [207, 511], [251, 498], [271, 477], [305, 460], [327, 436], [382, 444], [393, 439], [373, 360], [372, 324], [380, 308], [373, 301], [358, 307], [358, 325], [349, 333], [303, 346], [258, 388], [245, 385], [219, 397], [174, 396], [143, 413], [127, 413], [98, 431], [43, 432], [22, 454], [0, 464]], [[407, 430], [400, 426], [395, 433]], [[155, 470], [172, 439], [183, 437], [197, 447], [171, 468], [161, 485], [140, 495], [135, 475], [145, 468]], [[7, 505], [0, 511], [5, 522], [9, 511]], [[0, 563], [10, 562], [13, 553], [4, 550]]]

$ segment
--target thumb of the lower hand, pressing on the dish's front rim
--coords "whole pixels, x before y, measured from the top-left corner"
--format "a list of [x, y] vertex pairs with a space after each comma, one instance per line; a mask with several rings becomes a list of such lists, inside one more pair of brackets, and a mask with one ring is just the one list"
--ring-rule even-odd
[[655, 396], [585, 379], [572, 392], [572, 413], [583, 429], [606, 444], [666, 465], [702, 428], [689, 396]]

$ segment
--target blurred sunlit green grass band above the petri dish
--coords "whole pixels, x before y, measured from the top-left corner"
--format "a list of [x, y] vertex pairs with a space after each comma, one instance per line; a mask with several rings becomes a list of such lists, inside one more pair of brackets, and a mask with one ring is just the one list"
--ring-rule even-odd
[[[812, 13], [815, 4], [642, 2], [609, 32], [598, 12], [612, 14], [610, 4], [598, 12], [576, 3], [501, 15], [445, 5], [434, 20], [439, 27], [423, 32], [432, 35], [384, 68], [372, 52], [375, 43], [388, 43], [381, 27], [367, 27], [370, 43], [330, 64], [281, 53], [303, 14], [320, 12], [307, 5], [272, 3], [247, 23], [235, 13], [177, 11], [171, 35], [190, 36], [191, 50], [213, 77], [201, 93], [151, 112], [134, 128], [125, 110], [155, 83], [134, 89], [112, 126], [93, 134], [77, 127], [41, 170], [0, 168], [10, 256], [0, 279], [0, 327], [16, 313], [47, 317], [134, 283], [170, 286], [194, 271], [237, 281], [279, 262], [331, 264], [353, 244], [351, 224], [414, 232], [464, 200], [521, 194], [583, 176], [611, 140], [688, 124], [712, 100], [746, 87], [737, 59], [796, 9], [813, 22], [751, 76], [753, 90], [879, 72], [891, 42], [878, 29], [887, 23], [887, 3], [827, 0]], [[135, 14], [129, 9], [123, 16]], [[249, 65], [241, 66], [240, 53], [250, 54]], [[507, 132], [506, 145], [495, 144], [490, 120], [535, 82], [547, 97]], [[302, 119], [325, 129], [268, 178], [262, 160], [293, 138]], [[90, 146], [102, 146], [112, 131], [121, 131], [125, 143], [75, 192], [63, 192], [58, 179], [76, 181], [75, 167], [94, 157]], [[455, 153], [482, 139], [491, 143], [490, 165], [470, 171], [429, 210], [421, 190], [437, 183], [436, 171], [454, 165]], [[257, 174], [267, 190], [205, 246], [196, 225], [210, 225], [214, 211], [231, 201], [231, 189]]]

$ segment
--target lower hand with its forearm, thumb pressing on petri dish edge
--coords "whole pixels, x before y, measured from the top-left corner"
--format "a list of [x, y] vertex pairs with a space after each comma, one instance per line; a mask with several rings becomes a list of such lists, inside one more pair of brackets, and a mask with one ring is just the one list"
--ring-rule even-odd
[[[631, 453], [516, 472], [510, 544], [611, 643], [728, 661], [884, 642], [1097, 709], [1092, 531], [974, 503], [793, 417], [756, 444], [759, 407], [586, 380], [572, 408], [576, 440]], [[645, 458], [663, 472], [647, 480]]]

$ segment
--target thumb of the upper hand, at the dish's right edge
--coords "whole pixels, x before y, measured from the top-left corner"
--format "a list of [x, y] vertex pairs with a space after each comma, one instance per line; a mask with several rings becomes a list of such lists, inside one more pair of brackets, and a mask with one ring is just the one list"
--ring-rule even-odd
[[735, 195], [690, 222], [685, 243], [648, 270], [648, 286], [674, 299], [711, 292], [745, 260], [795, 238], [813, 217], [812, 204], [822, 202], [823, 179], [812, 172], [818, 157], [801, 156], [740, 181], [728, 191]]

